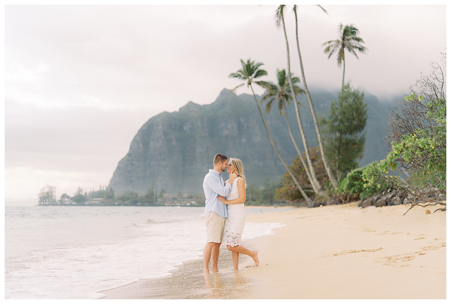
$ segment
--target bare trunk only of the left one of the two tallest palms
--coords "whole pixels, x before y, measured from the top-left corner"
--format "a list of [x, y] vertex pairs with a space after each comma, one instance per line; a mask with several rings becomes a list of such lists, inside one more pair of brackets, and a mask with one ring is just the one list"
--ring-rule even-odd
[[[304, 145], [304, 151], [307, 156], [307, 160], [310, 160], [310, 155], [308, 154], [308, 146], [307, 146], [307, 139], [305, 138], [304, 134], [304, 127], [302, 126], [301, 122], [301, 116], [299, 115], [299, 107], [298, 107], [298, 101], [296, 99], [295, 90], [293, 88], [293, 80], [291, 79], [291, 71], [290, 71], [290, 49], [288, 46], [288, 38], [286, 36], [286, 30], [285, 30], [285, 19], [282, 15], [282, 24], [283, 24], [283, 32], [285, 35], [285, 43], [286, 43], [286, 60], [287, 60], [287, 74], [288, 74], [288, 83], [290, 84], [290, 90], [291, 90], [291, 96], [293, 98], [293, 101], [295, 102], [295, 111], [296, 111], [296, 118], [298, 119], [298, 125], [299, 125], [299, 131], [301, 132], [301, 138], [302, 143]], [[302, 159], [302, 154], [299, 154], [299, 157]], [[302, 160], [304, 165], [304, 160]], [[311, 164], [312, 161], [310, 161]], [[310, 165], [309, 164], [309, 165]], [[304, 166], [305, 171], [307, 172], [307, 166]], [[321, 193], [321, 185], [319, 184], [318, 180], [316, 179], [315, 171], [313, 170], [313, 166], [310, 167], [310, 184], [312, 184], [313, 191], [315, 193], [319, 194]]]

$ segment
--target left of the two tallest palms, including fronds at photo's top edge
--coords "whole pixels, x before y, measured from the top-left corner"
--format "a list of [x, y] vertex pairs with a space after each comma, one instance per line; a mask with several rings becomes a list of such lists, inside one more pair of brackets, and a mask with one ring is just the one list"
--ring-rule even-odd
[[[279, 7], [276, 9], [276, 16], [275, 16], [275, 18], [276, 18], [277, 27], [280, 27], [281, 22], [282, 22], [282, 25], [283, 25], [283, 32], [285, 34], [285, 43], [286, 43], [287, 73], [288, 73], [288, 75], [291, 75], [291, 71], [290, 71], [290, 50], [289, 50], [289, 47], [288, 47], [288, 38], [286, 37], [285, 19], [283, 17], [283, 10], [284, 10], [284, 8], [285, 8], [285, 5], [279, 5]], [[305, 154], [306, 154], [306, 157], [307, 157], [307, 163], [308, 163], [308, 167], [310, 169], [310, 175], [311, 176], [315, 176], [315, 178], [312, 179], [313, 183], [315, 184], [315, 187], [317, 189], [321, 189], [321, 186], [320, 186], [318, 180], [316, 179], [315, 170], [313, 169], [313, 165], [312, 165], [312, 161], [310, 159], [310, 155], [308, 154], [307, 138], [305, 138], [304, 127], [302, 126], [301, 115], [299, 113], [299, 107], [298, 107], [298, 101], [296, 100], [296, 94], [295, 94], [295, 90], [294, 90], [294, 87], [293, 87], [293, 82], [291, 81], [291, 77], [288, 77], [288, 83], [290, 84], [291, 96], [293, 97], [293, 100], [295, 101], [296, 118], [298, 119], [299, 131], [301, 132], [302, 143], [304, 144]], [[299, 157], [301, 157], [301, 156], [299, 155]], [[301, 157], [301, 159], [302, 159], [302, 157]], [[334, 185], [334, 187], [335, 187], [335, 185]]]

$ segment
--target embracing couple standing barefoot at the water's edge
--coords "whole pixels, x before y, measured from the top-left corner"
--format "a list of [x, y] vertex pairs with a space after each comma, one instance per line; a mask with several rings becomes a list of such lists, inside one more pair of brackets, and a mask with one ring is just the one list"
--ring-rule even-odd
[[[230, 174], [229, 180], [222, 180], [221, 173]], [[209, 274], [208, 263], [212, 259], [212, 272], [218, 272], [219, 247], [224, 241], [232, 253], [233, 269], [238, 270], [239, 253], [249, 255], [258, 266], [257, 251], [250, 251], [241, 246], [246, 212], [246, 177], [243, 163], [238, 158], [216, 154], [213, 169], [203, 180], [205, 193], [205, 225], [207, 226], [207, 244], [203, 249], [203, 274]]]

